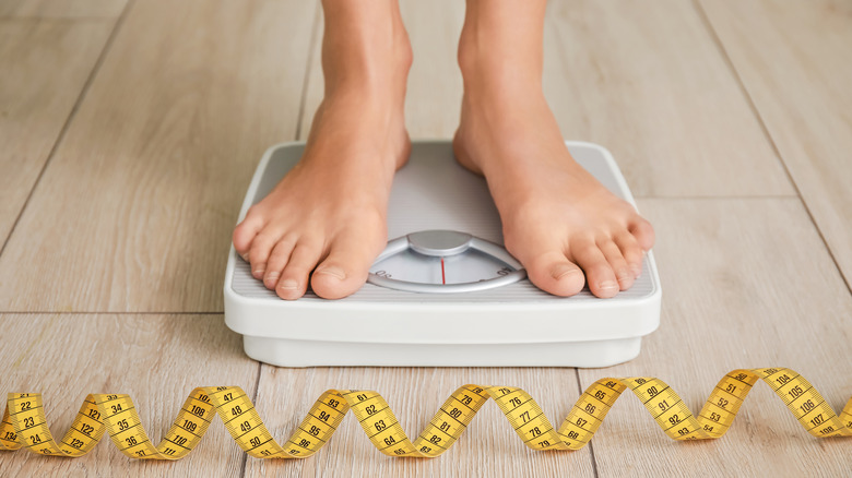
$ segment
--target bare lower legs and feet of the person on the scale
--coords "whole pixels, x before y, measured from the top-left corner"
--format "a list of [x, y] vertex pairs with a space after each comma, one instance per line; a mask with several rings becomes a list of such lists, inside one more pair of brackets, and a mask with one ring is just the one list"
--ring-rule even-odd
[[[541, 289], [601, 298], [629, 288], [653, 228], [571, 158], [542, 91], [544, 0], [469, 0], [453, 150], [484, 175], [506, 248]], [[387, 239], [393, 172], [409, 156], [412, 51], [395, 0], [326, 0], [326, 96], [304, 157], [234, 231], [283, 299], [356, 291]], [[306, 207], [309, 204], [310, 207]]]

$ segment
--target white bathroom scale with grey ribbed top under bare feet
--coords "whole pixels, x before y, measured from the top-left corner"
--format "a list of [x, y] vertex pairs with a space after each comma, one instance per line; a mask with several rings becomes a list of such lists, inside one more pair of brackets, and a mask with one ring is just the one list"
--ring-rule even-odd
[[[580, 165], [635, 205], [605, 148], [567, 145]], [[285, 143], [267, 151], [239, 220], [304, 147]], [[249, 357], [281, 367], [607, 367], [637, 357], [642, 337], [660, 324], [662, 291], [650, 252], [634, 286], [611, 299], [588, 288], [564, 298], [533, 286], [502, 248], [485, 180], [459, 166], [449, 141], [414, 142], [393, 180], [388, 241], [369, 282], [340, 300], [310, 290], [282, 300], [232, 248], [225, 323], [242, 334]]]

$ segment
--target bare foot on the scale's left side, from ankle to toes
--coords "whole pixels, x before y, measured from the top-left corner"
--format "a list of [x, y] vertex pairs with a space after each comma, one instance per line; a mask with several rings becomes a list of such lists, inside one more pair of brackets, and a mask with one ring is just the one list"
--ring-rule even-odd
[[249, 208], [234, 247], [282, 299], [308, 286], [338, 299], [367, 280], [387, 241], [393, 172], [409, 156], [402, 117], [363, 97], [326, 98], [299, 163]]

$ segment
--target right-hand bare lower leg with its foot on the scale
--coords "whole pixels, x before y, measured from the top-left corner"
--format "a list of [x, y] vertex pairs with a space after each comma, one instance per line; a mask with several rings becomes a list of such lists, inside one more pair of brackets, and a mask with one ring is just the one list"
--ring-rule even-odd
[[651, 225], [568, 152], [542, 91], [546, 0], [468, 0], [459, 41], [464, 76], [453, 148], [485, 175], [506, 247], [530, 279], [558, 296], [588, 283], [613, 297], [639, 276]]

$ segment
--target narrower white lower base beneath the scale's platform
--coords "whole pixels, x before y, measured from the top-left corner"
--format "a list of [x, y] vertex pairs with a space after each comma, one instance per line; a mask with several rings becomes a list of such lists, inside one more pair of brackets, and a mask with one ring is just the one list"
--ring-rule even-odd
[[[242, 337], [246, 355], [279, 367], [610, 367], [639, 356], [641, 337], [545, 344], [365, 344]], [[329, 350], [334, 350], [330, 354]]]

